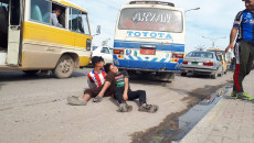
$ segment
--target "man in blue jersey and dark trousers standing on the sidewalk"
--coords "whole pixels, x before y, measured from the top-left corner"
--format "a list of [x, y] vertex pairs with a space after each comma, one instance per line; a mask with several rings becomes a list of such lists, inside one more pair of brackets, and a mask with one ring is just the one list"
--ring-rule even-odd
[[[246, 9], [240, 11], [234, 20], [233, 29], [230, 35], [230, 45], [225, 48], [234, 50], [235, 53], [235, 72], [234, 72], [234, 87], [231, 97], [239, 99], [253, 100], [243, 90], [243, 79], [250, 74], [254, 58], [254, 0], [243, 0]], [[234, 40], [237, 38], [234, 45]]]

